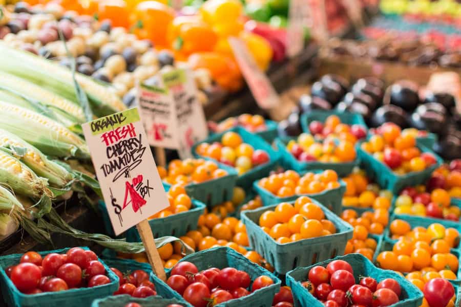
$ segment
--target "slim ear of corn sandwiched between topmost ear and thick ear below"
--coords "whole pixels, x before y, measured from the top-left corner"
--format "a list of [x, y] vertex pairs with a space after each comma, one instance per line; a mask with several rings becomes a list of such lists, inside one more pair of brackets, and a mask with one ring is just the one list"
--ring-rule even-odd
[[57, 108], [61, 110], [59, 114], [62, 114], [63, 111], [69, 113], [75, 117], [79, 123], [85, 122], [85, 115], [79, 105], [25, 79], [6, 73], [0, 73], [0, 89], [2, 87], [16, 95], [19, 94], [25, 98], [38, 101], [43, 105]]

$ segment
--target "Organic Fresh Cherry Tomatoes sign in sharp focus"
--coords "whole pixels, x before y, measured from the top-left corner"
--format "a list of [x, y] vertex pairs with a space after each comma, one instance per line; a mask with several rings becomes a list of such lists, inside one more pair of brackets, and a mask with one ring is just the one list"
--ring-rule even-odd
[[170, 206], [137, 108], [82, 128], [115, 235]]

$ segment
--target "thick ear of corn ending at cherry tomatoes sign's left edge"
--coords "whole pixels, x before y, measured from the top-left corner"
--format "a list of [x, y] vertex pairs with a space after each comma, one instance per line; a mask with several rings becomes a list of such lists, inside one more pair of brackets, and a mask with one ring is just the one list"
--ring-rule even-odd
[[61, 124], [29, 109], [0, 101], [0, 128], [53, 157], [89, 159], [83, 139]]

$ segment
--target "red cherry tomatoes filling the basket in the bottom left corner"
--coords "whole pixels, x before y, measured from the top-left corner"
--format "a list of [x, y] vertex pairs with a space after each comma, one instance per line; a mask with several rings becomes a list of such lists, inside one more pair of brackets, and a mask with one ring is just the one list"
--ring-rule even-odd
[[5, 269], [14, 286], [25, 294], [96, 287], [110, 283], [106, 269], [93, 251], [73, 247], [66, 254], [37, 252], [22, 255], [19, 264]]

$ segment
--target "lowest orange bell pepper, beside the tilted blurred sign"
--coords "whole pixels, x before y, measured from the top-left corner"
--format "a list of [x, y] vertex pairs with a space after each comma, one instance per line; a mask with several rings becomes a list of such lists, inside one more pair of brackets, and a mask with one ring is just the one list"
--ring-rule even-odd
[[188, 63], [192, 69], [207, 69], [213, 80], [225, 90], [235, 92], [240, 90], [243, 85], [238, 65], [230, 57], [216, 52], [200, 52], [192, 54]]

